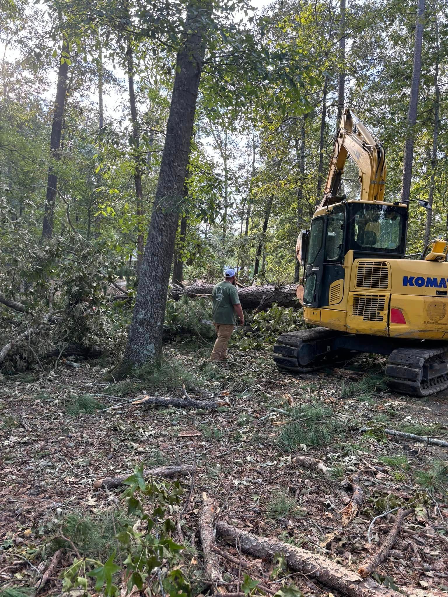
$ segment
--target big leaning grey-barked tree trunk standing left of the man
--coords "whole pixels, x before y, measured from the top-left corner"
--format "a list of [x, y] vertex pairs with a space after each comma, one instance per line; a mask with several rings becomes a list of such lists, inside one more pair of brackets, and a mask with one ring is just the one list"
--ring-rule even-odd
[[136, 306], [124, 356], [111, 373], [115, 378], [125, 376], [132, 367], [157, 362], [162, 357], [168, 282], [204, 60], [201, 27], [209, 13], [210, 5], [188, 8], [185, 40], [177, 54], [167, 134]]

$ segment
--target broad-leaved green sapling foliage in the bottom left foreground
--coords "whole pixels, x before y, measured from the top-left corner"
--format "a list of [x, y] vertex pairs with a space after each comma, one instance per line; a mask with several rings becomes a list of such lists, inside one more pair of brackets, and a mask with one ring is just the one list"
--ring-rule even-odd
[[[192, 595], [188, 579], [177, 566], [183, 546], [175, 543], [171, 534], [174, 521], [169, 518], [180, 503], [182, 490], [179, 482], [168, 482], [143, 477], [143, 464], [136, 466], [125, 484], [123, 498], [127, 502], [130, 521], [122, 519], [116, 529], [116, 549], [105, 561], [87, 556], [73, 561], [63, 574], [63, 590], [88, 590], [94, 579], [94, 590], [106, 597], [119, 594], [118, 584], [125, 570], [127, 588], [143, 588], [148, 583], [152, 595], [170, 592], [181, 597]], [[136, 522], [138, 524], [136, 524]], [[75, 531], [76, 531], [75, 525]], [[91, 537], [91, 529], [83, 527], [84, 537]], [[88, 530], [87, 530], [88, 529]], [[118, 550], [118, 552], [117, 552]], [[162, 570], [163, 565], [163, 570]], [[125, 567], [125, 569], [124, 569]], [[158, 568], [159, 573], [152, 571]]]

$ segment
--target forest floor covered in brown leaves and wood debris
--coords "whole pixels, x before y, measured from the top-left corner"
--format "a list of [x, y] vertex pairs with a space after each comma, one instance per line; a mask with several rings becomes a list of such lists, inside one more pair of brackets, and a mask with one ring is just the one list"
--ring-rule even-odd
[[[375, 578], [391, 587], [415, 589], [415, 595], [447, 592], [446, 448], [388, 436], [383, 429], [446, 439], [448, 392], [416, 400], [382, 390], [375, 378], [381, 361], [367, 356], [346, 368], [291, 375], [274, 367], [268, 350], [240, 352], [235, 343], [232, 361], [213, 365], [207, 362], [208, 352], [208, 344], [165, 346], [171, 378], [165, 387], [156, 380], [157, 389], [139, 381], [105, 384], [106, 363], [95, 361], [80, 361], [79, 367], [59, 362], [50, 372], [2, 379], [0, 587], [33, 586], [48, 567], [51, 540], [66, 528], [67, 515], [96, 522], [106, 537], [105, 521], [123, 503], [119, 490], [105, 491], [94, 483], [130, 474], [145, 461], [146, 466], [195, 463], [183, 534], [199, 551], [202, 491], [225, 504], [223, 516], [236, 527], [280, 538], [351, 570], [378, 550], [394, 513], [376, 521], [369, 544], [372, 519], [411, 503], [415, 514], [404, 520]], [[178, 370], [188, 372], [191, 398], [228, 406], [210, 411], [131, 404], [145, 393], [180, 397]], [[103, 410], [91, 408], [92, 401], [83, 405], [80, 397], [86, 394], [102, 403]], [[306, 416], [299, 424], [297, 413], [304, 407]], [[357, 430], [362, 426], [373, 431]], [[323, 459], [330, 475], [291, 464], [291, 456], [305, 450], [307, 456]], [[364, 504], [343, 527], [339, 482], [354, 473], [360, 473]], [[189, 479], [182, 484], [188, 491]], [[113, 533], [108, 537], [106, 551]], [[68, 538], [76, 544], [76, 537]], [[219, 545], [240, 558], [235, 547]], [[201, 558], [193, 548], [189, 554], [195, 591], [206, 593]], [[42, 595], [60, 593], [59, 574], [70, 557], [67, 553]], [[238, 590], [238, 565], [219, 559], [229, 579], [226, 590]], [[328, 587], [289, 574], [281, 565], [273, 569], [269, 562], [246, 555], [243, 561], [251, 577], [262, 578], [271, 593], [293, 582], [305, 595], [329, 595]]]

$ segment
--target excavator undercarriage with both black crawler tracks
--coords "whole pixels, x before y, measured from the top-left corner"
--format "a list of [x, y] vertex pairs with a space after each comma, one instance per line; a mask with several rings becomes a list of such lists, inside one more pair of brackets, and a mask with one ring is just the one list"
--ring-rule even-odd
[[287, 332], [277, 338], [274, 361], [283, 370], [310, 373], [368, 352], [389, 355], [385, 374], [391, 390], [430, 396], [448, 388], [448, 343], [345, 334], [327, 328]]

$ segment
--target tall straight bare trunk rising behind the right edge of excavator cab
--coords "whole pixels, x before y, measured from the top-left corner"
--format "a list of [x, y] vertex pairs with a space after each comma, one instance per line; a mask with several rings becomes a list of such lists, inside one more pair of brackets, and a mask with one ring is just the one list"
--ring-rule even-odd
[[403, 182], [401, 183], [401, 201], [409, 201], [412, 179], [412, 159], [414, 154], [414, 127], [417, 122], [417, 104], [419, 99], [420, 74], [422, 70], [422, 41], [425, 0], [418, 0], [417, 22], [415, 26], [414, 63], [412, 83], [407, 112], [407, 136], [404, 145]]

